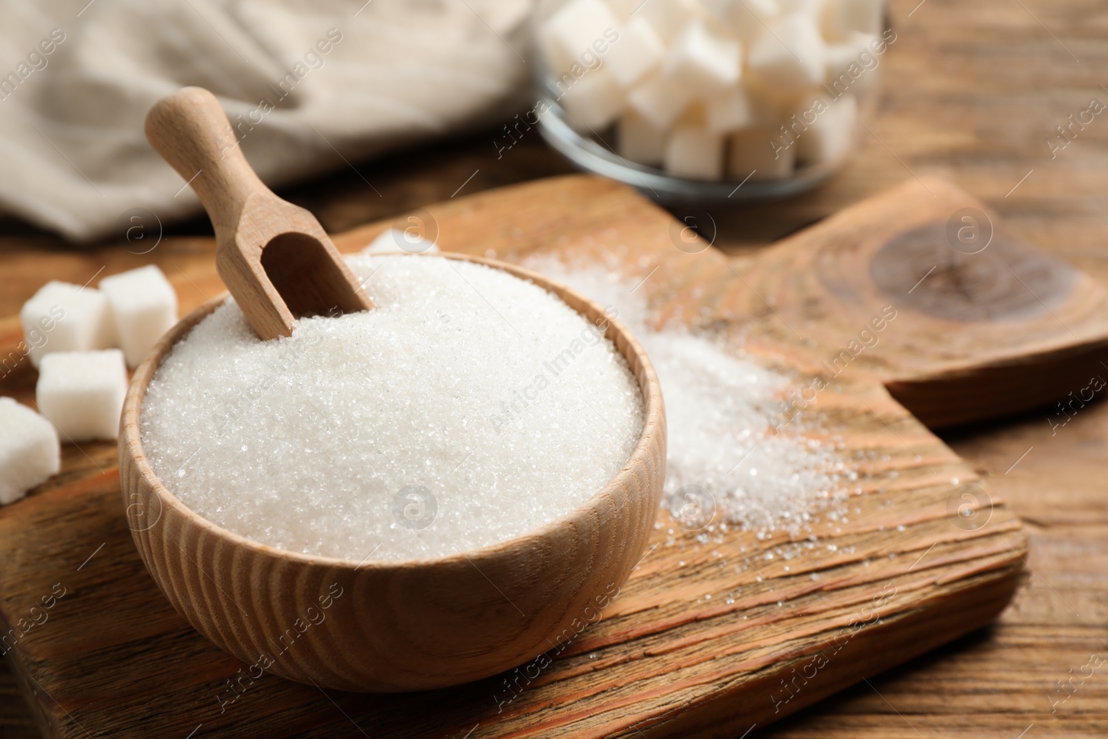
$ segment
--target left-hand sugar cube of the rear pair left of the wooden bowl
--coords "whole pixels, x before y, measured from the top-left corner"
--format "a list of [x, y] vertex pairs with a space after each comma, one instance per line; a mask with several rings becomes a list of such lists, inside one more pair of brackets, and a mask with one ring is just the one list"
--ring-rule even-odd
[[89, 351], [112, 346], [107, 299], [100, 290], [50, 280], [19, 311], [35, 367], [51, 351]]

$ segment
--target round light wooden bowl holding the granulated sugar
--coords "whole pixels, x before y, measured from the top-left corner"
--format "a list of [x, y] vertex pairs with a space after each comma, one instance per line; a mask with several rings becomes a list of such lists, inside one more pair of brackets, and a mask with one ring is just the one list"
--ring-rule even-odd
[[[521, 267], [463, 255], [535, 283], [591, 321], [599, 306]], [[429, 258], [411, 256], [407, 258]], [[151, 350], [131, 380], [120, 429], [127, 524], [154, 582], [196, 629], [260, 670], [341, 690], [458, 685], [556, 649], [595, 623], [635, 567], [666, 471], [661, 390], [643, 347], [617, 320], [606, 336], [645, 401], [624, 468], [564, 517], [516, 538], [411, 561], [310, 556], [233, 534], [188, 510], [143, 454], [146, 387], [170, 348], [226, 296], [197, 308]]]

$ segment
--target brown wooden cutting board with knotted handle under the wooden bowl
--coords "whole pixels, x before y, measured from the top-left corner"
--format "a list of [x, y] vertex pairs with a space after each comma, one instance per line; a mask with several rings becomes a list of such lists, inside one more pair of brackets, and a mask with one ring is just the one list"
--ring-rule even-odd
[[[660, 316], [741, 337], [798, 388], [828, 376], [808, 410], [841, 434], [856, 468], [849, 515], [790, 544], [733, 530], [697, 538], [661, 511], [618, 596], [542, 669], [424, 694], [341, 694], [258, 675], [185, 624], [135, 552], [114, 445], [65, 445], [62, 473], [0, 511], [4, 649], [43, 733], [739, 737], [981, 627], [1016, 588], [1026, 536], [988, 482], [884, 386], [935, 423], [1053, 400], [1063, 368], [1102, 359], [1108, 311], [1087, 277], [998, 229], [976, 255], [963, 254], [972, 238], [958, 242], [965, 258], [952, 258], [946, 223], [965, 208], [995, 224], [952, 186], [912, 181], [746, 260], [586, 176], [416, 214], [444, 250], [607, 255], [645, 279]], [[355, 250], [390, 225], [335, 240]], [[223, 289], [209, 259], [147, 258], [183, 311]], [[996, 268], [1015, 279], [991, 281]], [[1019, 283], [1035, 300], [1012, 295]], [[855, 353], [851, 341], [886, 306], [896, 318]], [[14, 318], [0, 320], [4, 355], [20, 338]], [[31, 402], [27, 365], [0, 391]]]

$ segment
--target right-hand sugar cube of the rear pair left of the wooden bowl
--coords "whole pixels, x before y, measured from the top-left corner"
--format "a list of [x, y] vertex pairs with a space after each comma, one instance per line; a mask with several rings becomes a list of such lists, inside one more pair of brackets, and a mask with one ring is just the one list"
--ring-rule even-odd
[[100, 280], [130, 367], [137, 367], [162, 335], [177, 322], [177, 292], [154, 265]]

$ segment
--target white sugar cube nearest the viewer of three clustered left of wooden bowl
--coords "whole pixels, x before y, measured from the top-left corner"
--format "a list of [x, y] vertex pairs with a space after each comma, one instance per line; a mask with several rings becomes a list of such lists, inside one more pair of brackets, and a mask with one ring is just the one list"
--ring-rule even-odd
[[70, 441], [119, 437], [127, 368], [119, 349], [57, 351], [42, 358], [39, 410]]

